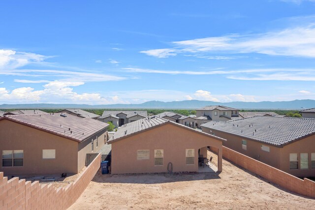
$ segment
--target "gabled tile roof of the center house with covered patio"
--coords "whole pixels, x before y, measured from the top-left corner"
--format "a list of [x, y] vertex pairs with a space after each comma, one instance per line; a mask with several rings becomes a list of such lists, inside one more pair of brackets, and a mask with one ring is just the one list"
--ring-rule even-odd
[[161, 118], [161, 117], [153, 116], [153, 117], [147, 117], [144, 119], [139, 119], [139, 120], [136, 120], [134, 122], [125, 124], [120, 129], [118, 129], [118, 131], [114, 134], [114, 136], [110, 140], [108, 140], [107, 142], [112, 143], [113, 141], [116, 141], [116, 140], [122, 140], [122, 139], [125, 139], [126, 137], [128, 137], [130, 135], [135, 135], [135, 134], [144, 132], [148, 129], [153, 129], [155, 127], [158, 127], [158, 126], [161, 126], [161, 125], [164, 125], [167, 123], [181, 127], [181, 128], [184, 128], [184, 129], [188, 129], [192, 132], [206, 135], [208, 137], [212, 137], [214, 139], [218, 139], [218, 140], [222, 140], [222, 141], [224, 140], [220, 137], [216, 137], [216, 136], [207, 134], [205, 132], [202, 132], [202, 131], [199, 131], [199, 130], [196, 130], [193, 128], [189, 128], [188, 126], [184, 126], [184, 125], [172, 122], [170, 120], [166, 120], [166, 119]]

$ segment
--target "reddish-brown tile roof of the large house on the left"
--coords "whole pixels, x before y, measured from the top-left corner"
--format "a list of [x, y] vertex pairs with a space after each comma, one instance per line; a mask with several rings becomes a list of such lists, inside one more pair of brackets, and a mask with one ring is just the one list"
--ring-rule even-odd
[[79, 142], [88, 139], [108, 126], [107, 123], [92, 118], [79, 118], [70, 114], [63, 114], [66, 117], [61, 115], [60, 113], [6, 115], [0, 120], [7, 119]]

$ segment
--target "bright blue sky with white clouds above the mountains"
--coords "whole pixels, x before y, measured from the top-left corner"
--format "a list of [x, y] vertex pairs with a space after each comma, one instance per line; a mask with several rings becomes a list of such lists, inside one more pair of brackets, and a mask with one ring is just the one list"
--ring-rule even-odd
[[315, 0], [3, 0], [0, 32], [0, 104], [315, 99]]

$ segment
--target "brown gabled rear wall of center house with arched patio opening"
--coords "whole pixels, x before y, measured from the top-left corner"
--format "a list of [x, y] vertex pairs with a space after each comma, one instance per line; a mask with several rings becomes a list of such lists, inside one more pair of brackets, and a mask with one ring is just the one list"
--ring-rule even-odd
[[[163, 173], [168, 163], [173, 172], [197, 172], [198, 149], [205, 146], [219, 148], [221, 157], [222, 141], [197, 134], [176, 125], [165, 124], [151, 130], [112, 142], [112, 174]], [[154, 165], [154, 150], [163, 149], [163, 165]], [[194, 164], [186, 165], [186, 149], [195, 149]], [[150, 150], [149, 160], [137, 160], [137, 150]], [[221, 159], [220, 159], [221, 161]], [[219, 171], [221, 171], [219, 162]]]

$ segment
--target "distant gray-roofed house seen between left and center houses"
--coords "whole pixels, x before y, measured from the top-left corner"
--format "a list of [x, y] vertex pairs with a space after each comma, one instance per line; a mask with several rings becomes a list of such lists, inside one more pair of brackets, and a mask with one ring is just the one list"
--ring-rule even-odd
[[111, 122], [115, 128], [121, 127], [127, 123], [146, 118], [147, 111], [143, 110], [119, 110], [119, 111], [104, 111], [101, 117], [97, 119], [102, 122]]

